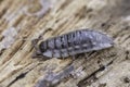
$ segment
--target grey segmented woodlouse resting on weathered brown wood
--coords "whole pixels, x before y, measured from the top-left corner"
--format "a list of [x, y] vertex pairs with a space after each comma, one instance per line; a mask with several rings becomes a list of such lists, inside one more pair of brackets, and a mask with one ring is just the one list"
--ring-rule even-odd
[[[35, 41], [34, 41], [35, 42]], [[36, 47], [36, 44], [34, 44]], [[35, 57], [66, 58], [109, 48], [113, 39], [95, 30], [80, 29], [41, 41]]]

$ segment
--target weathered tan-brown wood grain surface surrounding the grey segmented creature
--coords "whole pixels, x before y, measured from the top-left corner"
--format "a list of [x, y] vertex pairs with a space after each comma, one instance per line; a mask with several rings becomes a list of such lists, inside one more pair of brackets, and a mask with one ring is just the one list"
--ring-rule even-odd
[[[90, 28], [115, 45], [75, 60], [32, 59], [31, 40], [49, 28], [43, 40]], [[0, 87], [46, 87], [38, 82], [50, 72], [63, 76], [70, 64], [55, 87], [130, 87], [130, 0], [0, 0]]]

